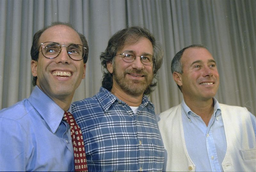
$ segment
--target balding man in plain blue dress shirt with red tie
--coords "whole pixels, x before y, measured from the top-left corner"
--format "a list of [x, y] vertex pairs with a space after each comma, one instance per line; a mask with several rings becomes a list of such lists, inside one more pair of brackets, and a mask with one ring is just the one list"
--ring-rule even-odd
[[86, 39], [68, 23], [54, 22], [34, 35], [31, 58], [36, 87], [0, 111], [0, 171], [74, 171], [70, 129], [62, 118], [85, 77]]

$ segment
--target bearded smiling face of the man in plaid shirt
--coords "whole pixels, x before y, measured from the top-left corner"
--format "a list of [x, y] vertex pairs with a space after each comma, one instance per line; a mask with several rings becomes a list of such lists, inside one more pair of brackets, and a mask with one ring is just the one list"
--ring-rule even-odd
[[152, 43], [147, 38], [142, 37], [136, 43], [124, 44], [124, 47], [116, 54], [121, 54], [124, 51], [133, 52], [136, 59], [128, 63], [122, 59], [121, 55], [117, 55], [113, 59], [113, 64], [108, 62], [108, 71], [113, 74], [112, 90], [114, 92], [120, 90], [132, 96], [142, 96], [153, 81], [153, 64], [143, 65], [139, 56], [143, 54], [153, 55]]

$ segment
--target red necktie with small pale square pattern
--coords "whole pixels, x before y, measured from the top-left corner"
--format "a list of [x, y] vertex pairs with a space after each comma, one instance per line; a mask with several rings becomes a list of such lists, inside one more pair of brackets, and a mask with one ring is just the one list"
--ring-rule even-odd
[[87, 171], [87, 163], [86, 163], [82, 131], [80, 127], [77, 125], [75, 118], [71, 113], [65, 112], [63, 116], [63, 120], [68, 122], [70, 126], [72, 144], [74, 148], [76, 171]]

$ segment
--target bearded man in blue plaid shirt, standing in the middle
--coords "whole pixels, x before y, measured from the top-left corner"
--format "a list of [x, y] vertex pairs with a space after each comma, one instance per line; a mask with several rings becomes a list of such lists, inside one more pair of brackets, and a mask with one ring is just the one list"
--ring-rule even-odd
[[162, 171], [164, 146], [148, 95], [163, 50], [141, 27], [118, 31], [100, 56], [100, 92], [75, 102], [88, 171]]

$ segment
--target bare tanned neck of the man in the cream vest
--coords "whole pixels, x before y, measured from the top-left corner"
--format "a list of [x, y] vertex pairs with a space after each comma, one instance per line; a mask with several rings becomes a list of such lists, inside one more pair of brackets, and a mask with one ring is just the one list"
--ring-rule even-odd
[[206, 126], [212, 117], [214, 111], [214, 102], [213, 98], [208, 100], [194, 100], [184, 98], [186, 105], [198, 116], [202, 118]]

